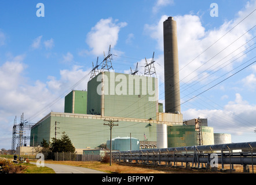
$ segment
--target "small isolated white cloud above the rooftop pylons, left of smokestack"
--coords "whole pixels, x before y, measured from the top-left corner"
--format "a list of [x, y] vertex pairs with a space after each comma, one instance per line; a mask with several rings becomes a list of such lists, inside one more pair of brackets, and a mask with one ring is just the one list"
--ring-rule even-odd
[[109, 45], [114, 49], [117, 41], [120, 28], [123, 28], [127, 23], [117, 23], [118, 20], [112, 18], [101, 19], [87, 34], [86, 43], [92, 49], [90, 53], [98, 56], [108, 50]]

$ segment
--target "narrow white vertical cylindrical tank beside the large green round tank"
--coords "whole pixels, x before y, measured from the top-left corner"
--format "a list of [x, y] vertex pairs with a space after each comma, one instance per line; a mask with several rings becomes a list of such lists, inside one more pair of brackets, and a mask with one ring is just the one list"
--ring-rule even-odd
[[167, 125], [156, 124], [156, 146], [158, 149], [167, 148]]

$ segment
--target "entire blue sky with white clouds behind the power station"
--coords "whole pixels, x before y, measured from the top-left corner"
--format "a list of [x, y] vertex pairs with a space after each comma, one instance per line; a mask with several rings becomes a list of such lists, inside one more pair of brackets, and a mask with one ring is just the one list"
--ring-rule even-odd
[[[36, 16], [37, 3], [45, 17]], [[143, 66], [155, 52], [164, 103], [162, 23], [169, 16], [177, 21], [184, 119], [207, 118], [232, 142], [255, 141], [255, 8], [255, 0], [1, 1], [0, 149], [11, 147], [15, 116], [36, 123], [51, 110], [64, 112], [64, 95], [87, 88], [92, 62], [101, 62], [109, 45], [115, 72]]]

